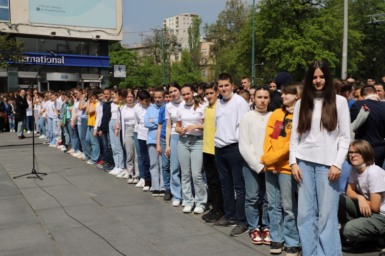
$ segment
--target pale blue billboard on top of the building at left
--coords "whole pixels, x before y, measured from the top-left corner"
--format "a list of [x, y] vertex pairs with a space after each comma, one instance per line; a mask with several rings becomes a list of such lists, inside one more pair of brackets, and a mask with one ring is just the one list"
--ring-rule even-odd
[[29, 0], [29, 22], [116, 28], [116, 1]]

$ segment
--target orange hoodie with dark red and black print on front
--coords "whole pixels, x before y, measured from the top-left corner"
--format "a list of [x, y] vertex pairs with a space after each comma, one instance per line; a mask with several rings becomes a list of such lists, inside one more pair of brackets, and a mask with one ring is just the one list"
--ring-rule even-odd
[[292, 121], [293, 113], [283, 111], [281, 108], [271, 114], [266, 126], [261, 156], [261, 162], [266, 166], [266, 170], [276, 169], [278, 173], [291, 175], [289, 145]]

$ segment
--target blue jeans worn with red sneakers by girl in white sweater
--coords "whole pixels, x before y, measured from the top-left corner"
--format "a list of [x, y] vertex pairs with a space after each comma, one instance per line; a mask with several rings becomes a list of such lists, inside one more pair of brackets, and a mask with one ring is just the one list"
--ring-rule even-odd
[[[245, 197], [245, 213], [249, 230], [269, 229], [270, 222], [267, 214], [267, 193], [265, 184], [265, 174], [250, 169], [246, 161], [243, 162], [243, 178], [245, 179], [246, 197]], [[262, 197], [262, 198], [260, 198]], [[259, 204], [263, 202], [263, 211], [259, 212]], [[262, 227], [259, 227], [259, 215], [262, 214]], [[271, 232], [271, 230], [270, 230]]]

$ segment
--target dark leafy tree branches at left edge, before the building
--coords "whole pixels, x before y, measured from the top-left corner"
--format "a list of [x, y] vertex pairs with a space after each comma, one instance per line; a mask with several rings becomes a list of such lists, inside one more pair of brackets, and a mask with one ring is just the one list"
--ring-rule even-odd
[[22, 63], [25, 54], [24, 41], [16, 40], [9, 33], [0, 31], [0, 69], [5, 69], [11, 63]]

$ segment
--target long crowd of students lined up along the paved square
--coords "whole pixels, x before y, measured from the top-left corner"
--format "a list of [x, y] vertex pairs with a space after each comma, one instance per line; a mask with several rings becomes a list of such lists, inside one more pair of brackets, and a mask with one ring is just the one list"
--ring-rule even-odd
[[20, 108], [32, 120], [34, 104], [43, 144], [185, 213], [210, 202], [202, 218], [231, 236], [249, 232], [272, 254], [329, 256], [384, 239], [385, 83], [372, 81], [333, 81], [314, 61], [302, 82], [279, 73], [250, 87], [220, 74], [150, 90], [36, 91], [33, 102], [22, 90], [7, 109], [19, 138]]

